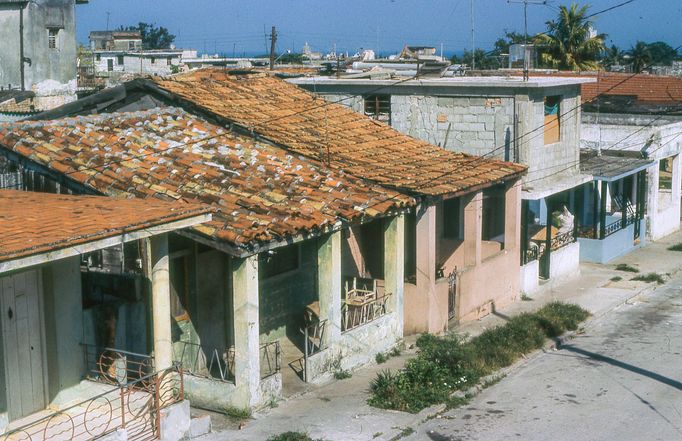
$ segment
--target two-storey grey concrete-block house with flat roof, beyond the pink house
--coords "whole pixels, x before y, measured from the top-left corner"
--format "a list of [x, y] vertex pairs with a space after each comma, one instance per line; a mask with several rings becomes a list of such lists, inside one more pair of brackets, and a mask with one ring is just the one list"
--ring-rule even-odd
[[522, 190], [521, 289], [532, 292], [541, 279], [578, 273], [574, 220], [582, 207], [577, 192], [592, 180], [580, 169], [580, 86], [593, 80], [491, 76], [289, 81], [446, 150], [528, 166]]

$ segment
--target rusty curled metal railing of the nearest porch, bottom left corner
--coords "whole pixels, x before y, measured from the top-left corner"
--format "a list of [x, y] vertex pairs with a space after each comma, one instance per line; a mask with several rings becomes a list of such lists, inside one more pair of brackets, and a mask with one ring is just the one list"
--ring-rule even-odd
[[129, 440], [159, 439], [161, 409], [184, 399], [182, 369], [176, 365], [10, 430], [0, 440], [92, 440], [118, 429], [125, 429]]

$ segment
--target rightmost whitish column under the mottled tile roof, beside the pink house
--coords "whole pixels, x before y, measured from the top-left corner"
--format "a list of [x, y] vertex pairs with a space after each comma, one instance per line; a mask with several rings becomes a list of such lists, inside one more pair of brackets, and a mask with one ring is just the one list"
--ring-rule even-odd
[[398, 335], [403, 335], [403, 299], [405, 292], [405, 215], [384, 221], [384, 281], [388, 310], [395, 314]]

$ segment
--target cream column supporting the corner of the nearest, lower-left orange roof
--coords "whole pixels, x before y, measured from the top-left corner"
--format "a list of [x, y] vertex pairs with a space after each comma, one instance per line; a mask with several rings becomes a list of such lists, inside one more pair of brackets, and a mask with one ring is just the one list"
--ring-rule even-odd
[[157, 371], [173, 365], [170, 310], [170, 260], [168, 235], [149, 240], [152, 263], [152, 329], [154, 331], [154, 363]]

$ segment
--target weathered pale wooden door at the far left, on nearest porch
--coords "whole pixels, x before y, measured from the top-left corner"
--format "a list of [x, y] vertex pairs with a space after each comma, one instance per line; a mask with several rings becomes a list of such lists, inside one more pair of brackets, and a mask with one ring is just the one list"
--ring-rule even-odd
[[39, 270], [0, 278], [0, 292], [7, 400], [12, 421], [46, 406]]

